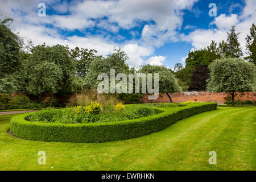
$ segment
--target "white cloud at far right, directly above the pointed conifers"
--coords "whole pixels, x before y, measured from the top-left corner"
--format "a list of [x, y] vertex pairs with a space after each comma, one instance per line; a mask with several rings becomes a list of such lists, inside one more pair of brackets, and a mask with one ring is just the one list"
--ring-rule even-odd
[[236, 24], [236, 32], [240, 32], [239, 41], [241, 43], [242, 51], [245, 54], [246, 35], [249, 34], [251, 24], [256, 22], [256, 1], [245, 0], [245, 7], [241, 15], [221, 14], [214, 18], [210, 25], [215, 24], [217, 28], [210, 27], [209, 29], [197, 29], [190, 32], [188, 36], [181, 35], [181, 39], [186, 42], [191, 42], [196, 49], [209, 46], [211, 40], [217, 43], [226, 40], [226, 32], [230, 30], [233, 24]]

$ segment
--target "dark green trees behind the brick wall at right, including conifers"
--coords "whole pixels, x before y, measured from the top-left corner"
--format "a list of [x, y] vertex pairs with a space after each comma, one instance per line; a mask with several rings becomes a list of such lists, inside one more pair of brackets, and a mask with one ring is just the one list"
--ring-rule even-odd
[[[240, 33], [236, 33], [236, 26], [232, 26], [227, 32], [227, 39], [218, 45], [214, 40], [212, 43], [198, 51], [191, 51], [185, 60], [185, 66], [175, 64], [174, 72], [183, 90], [207, 90], [207, 79], [209, 78], [209, 65], [221, 57], [241, 58], [243, 52], [238, 41]], [[256, 27], [252, 24], [250, 34], [246, 36], [246, 53], [243, 57], [249, 63], [256, 65]]]

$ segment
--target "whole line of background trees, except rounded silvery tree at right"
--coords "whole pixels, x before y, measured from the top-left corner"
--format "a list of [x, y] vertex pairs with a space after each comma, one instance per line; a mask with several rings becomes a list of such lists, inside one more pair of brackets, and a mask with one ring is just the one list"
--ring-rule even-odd
[[[144, 65], [139, 70], [126, 64], [126, 53], [120, 49], [108, 56], [99, 56], [94, 49], [68, 46], [30, 46], [24, 38], [14, 34], [9, 23], [13, 19], [0, 21], [0, 93], [23, 92], [40, 96], [48, 93], [50, 105], [53, 94], [65, 95], [83, 89], [97, 89], [97, 76], [110, 73], [159, 73], [159, 92], [179, 92], [181, 90], [206, 90], [209, 65], [223, 57], [240, 58], [243, 53], [238, 42], [235, 26], [232, 26], [226, 41], [214, 42], [199, 51], [191, 51], [185, 60], [185, 67], [176, 64], [174, 71], [164, 66]], [[255, 65], [255, 25], [246, 37], [245, 59]], [[26, 49], [24, 49], [26, 47]], [[27, 50], [27, 51], [24, 51]], [[240, 89], [241, 90], [241, 89]], [[121, 94], [123, 99], [138, 101], [141, 94]], [[135, 97], [135, 98], [133, 98]]]

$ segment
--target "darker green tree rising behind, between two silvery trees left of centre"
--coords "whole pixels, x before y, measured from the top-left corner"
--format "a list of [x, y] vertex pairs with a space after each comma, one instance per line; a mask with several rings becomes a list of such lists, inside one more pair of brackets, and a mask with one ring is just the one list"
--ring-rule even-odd
[[[67, 47], [68, 51], [69, 48]], [[69, 55], [72, 59], [76, 59], [76, 75], [84, 78], [89, 72], [90, 64], [96, 59], [97, 51], [94, 49], [79, 48], [71, 49]]]

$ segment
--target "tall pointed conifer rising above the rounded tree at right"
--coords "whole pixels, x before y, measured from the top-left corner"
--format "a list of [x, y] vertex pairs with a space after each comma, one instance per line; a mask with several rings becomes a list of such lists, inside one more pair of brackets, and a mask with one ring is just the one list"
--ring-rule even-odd
[[228, 38], [226, 39], [227, 47], [225, 56], [239, 58], [243, 55], [240, 43], [238, 42], [238, 36], [240, 33], [236, 33], [236, 26], [233, 25], [230, 32], [227, 32]]

